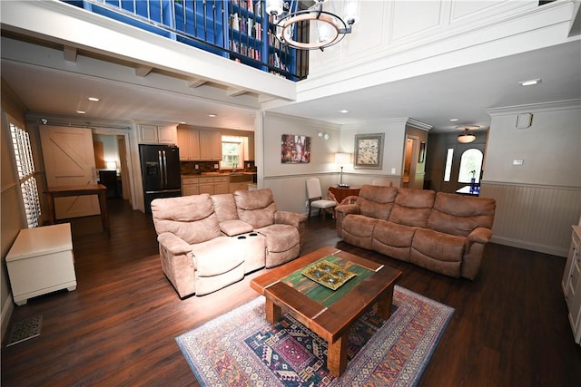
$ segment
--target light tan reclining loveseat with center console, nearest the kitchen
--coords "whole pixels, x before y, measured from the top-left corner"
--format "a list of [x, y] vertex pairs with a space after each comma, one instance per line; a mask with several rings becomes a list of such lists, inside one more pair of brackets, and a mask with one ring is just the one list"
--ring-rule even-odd
[[158, 198], [152, 214], [163, 273], [182, 298], [296, 258], [307, 219], [278, 211], [271, 189]]

